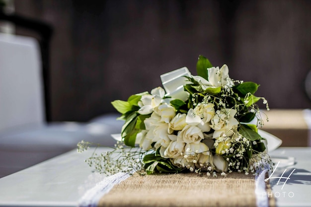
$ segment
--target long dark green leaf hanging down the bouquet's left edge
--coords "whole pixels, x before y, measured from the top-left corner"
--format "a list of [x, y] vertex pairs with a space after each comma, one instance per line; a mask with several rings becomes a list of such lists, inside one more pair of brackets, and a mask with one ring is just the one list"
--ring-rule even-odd
[[137, 119], [138, 115], [136, 112], [133, 112], [122, 126], [121, 136], [124, 138], [124, 143], [128, 146], [135, 146], [136, 136], [133, 137], [132, 135], [134, 133], [133, 130], [135, 129]]

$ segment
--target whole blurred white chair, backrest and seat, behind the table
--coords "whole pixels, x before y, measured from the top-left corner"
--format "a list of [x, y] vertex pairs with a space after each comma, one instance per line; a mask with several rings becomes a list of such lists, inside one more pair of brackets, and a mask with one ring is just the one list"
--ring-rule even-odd
[[0, 34], [0, 177], [74, 149], [82, 139], [111, 146], [110, 135], [121, 131], [115, 115], [47, 122], [40, 51], [32, 37]]

